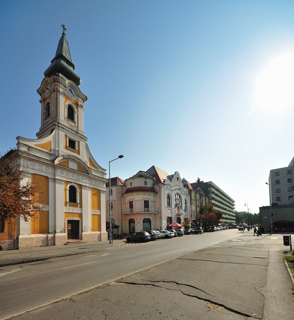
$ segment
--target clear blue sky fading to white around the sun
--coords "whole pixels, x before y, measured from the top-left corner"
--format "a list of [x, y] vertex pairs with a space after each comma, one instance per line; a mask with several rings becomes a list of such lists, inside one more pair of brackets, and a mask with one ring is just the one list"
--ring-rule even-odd
[[248, 202], [258, 212], [269, 204], [269, 171], [294, 156], [293, 9], [261, 0], [2, 2], [0, 150], [18, 135], [36, 138], [36, 90], [64, 23], [88, 97], [84, 131], [102, 167], [123, 154], [112, 176], [155, 165], [212, 180], [236, 210]]

